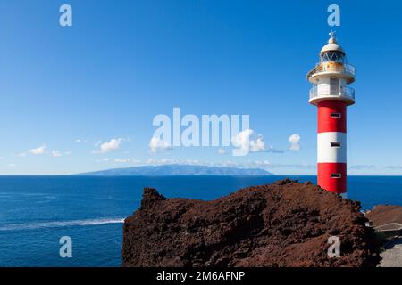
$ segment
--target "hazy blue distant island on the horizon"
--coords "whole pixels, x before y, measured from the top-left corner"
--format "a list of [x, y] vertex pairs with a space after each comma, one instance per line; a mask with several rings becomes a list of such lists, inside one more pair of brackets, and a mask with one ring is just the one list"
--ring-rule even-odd
[[124, 167], [81, 173], [88, 176], [169, 176], [169, 175], [273, 175], [260, 168], [206, 167], [195, 165], [163, 165], [145, 167]]

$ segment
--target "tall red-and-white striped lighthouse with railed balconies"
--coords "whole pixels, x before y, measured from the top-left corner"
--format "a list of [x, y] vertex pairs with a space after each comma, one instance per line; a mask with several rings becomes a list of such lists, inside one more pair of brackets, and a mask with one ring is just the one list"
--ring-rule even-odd
[[347, 192], [347, 107], [355, 103], [355, 68], [348, 64], [346, 53], [330, 33], [322, 47], [320, 62], [307, 79], [313, 84], [309, 102], [317, 106], [317, 184], [323, 189]]

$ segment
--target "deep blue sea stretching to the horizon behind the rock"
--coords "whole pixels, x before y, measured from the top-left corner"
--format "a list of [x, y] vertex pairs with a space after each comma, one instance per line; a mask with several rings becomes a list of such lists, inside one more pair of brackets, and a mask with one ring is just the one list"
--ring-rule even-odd
[[[282, 178], [0, 176], [0, 266], [120, 266], [122, 221], [138, 208], [144, 187], [209, 200]], [[348, 199], [363, 209], [402, 205], [402, 176], [349, 176]], [[71, 237], [71, 258], [60, 257], [63, 236]]]

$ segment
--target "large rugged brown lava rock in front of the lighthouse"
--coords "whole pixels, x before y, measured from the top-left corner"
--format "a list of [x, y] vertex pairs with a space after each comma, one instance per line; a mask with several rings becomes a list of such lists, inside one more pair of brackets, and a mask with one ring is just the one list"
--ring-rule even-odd
[[[360, 204], [285, 179], [213, 201], [144, 189], [126, 218], [123, 266], [375, 266], [379, 248]], [[339, 258], [327, 240], [338, 236]]]

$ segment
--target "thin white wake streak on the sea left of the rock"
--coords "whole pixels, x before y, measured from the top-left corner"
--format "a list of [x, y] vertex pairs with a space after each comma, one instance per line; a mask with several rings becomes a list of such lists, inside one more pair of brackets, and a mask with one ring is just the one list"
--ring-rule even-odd
[[72, 220], [72, 221], [54, 221], [42, 223], [29, 223], [29, 224], [6, 224], [0, 226], [1, 231], [19, 231], [19, 230], [36, 230], [41, 228], [58, 228], [74, 225], [99, 225], [99, 224], [122, 224], [124, 218], [100, 218], [88, 220]]

